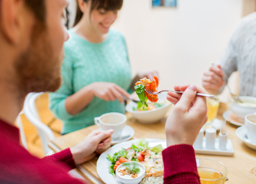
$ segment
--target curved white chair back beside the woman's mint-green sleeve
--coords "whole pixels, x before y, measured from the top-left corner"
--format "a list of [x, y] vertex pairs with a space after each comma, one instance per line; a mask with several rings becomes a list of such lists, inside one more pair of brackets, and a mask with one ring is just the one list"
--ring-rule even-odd
[[23, 112], [26, 118], [36, 127], [39, 137], [42, 141], [43, 150], [45, 155], [52, 154], [53, 151], [48, 147], [48, 142], [55, 139], [51, 128], [40, 120], [38, 109], [36, 108], [35, 100], [43, 93], [30, 93], [27, 95]]

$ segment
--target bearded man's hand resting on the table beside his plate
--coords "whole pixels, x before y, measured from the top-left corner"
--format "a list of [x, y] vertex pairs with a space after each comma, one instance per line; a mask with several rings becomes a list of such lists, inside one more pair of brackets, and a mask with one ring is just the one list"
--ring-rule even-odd
[[112, 133], [113, 129], [108, 131], [94, 130], [81, 143], [70, 148], [76, 165], [89, 161], [97, 153], [101, 154], [110, 148]]

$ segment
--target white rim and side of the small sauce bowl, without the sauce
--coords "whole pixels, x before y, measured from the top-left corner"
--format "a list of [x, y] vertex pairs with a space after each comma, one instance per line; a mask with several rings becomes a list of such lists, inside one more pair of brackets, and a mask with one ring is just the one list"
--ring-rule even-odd
[[122, 168], [123, 164], [125, 164], [125, 163], [123, 163], [123, 164], [121, 164], [117, 167], [116, 172], [115, 172], [115, 175], [117, 176], [118, 181], [123, 183], [123, 184], [138, 184], [139, 182], [141, 182], [142, 179], [145, 176], [145, 167], [144, 167], [144, 165], [140, 164], [139, 162], [126, 162], [126, 163], [135, 163], [142, 170], [140, 171], [139, 176], [137, 178], [124, 178], [120, 174], [118, 174], [118, 170]]

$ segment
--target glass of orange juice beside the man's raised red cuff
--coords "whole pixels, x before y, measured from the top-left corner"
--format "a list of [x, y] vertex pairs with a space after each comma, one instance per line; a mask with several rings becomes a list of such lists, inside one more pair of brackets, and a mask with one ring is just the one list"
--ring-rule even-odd
[[197, 172], [201, 184], [223, 184], [226, 181], [228, 169], [221, 162], [212, 158], [196, 158]]

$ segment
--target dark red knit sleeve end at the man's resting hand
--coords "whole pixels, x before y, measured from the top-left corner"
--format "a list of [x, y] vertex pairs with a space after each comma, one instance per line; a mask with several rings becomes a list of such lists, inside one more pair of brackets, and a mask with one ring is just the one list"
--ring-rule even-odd
[[62, 150], [59, 153], [52, 154], [51, 156], [46, 156], [42, 158], [42, 160], [49, 163], [55, 162], [59, 164], [65, 164], [68, 165], [70, 169], [76, 168], [75, 161], [73, 160], [73, 156], [69, 148]]

